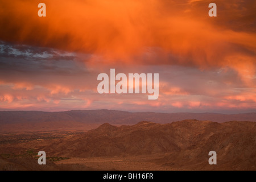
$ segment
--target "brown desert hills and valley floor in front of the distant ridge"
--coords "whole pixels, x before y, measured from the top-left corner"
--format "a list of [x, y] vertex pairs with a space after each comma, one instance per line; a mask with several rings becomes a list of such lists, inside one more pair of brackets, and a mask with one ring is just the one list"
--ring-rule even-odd
[[[256, 122], [189, 119], [14, 131], [0, 133], [0, 170], [256, 170]], [[47, 165], [40, 166], [42, 150]], [[217, 152], [217, 165], [208, 163], [209, 151]]]

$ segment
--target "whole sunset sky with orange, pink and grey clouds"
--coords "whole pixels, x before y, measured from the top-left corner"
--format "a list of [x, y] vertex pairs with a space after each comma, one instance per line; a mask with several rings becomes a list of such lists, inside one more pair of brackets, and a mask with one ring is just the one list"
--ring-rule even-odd
[[[255, 1], [0, 2], [0, 110], [256, 112]], [[111, 68], [159, 73], [158, 99], [99, 94]]]

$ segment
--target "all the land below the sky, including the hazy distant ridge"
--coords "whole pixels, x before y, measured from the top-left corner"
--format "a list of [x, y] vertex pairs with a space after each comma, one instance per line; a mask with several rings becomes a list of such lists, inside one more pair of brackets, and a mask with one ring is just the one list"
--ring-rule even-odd
[[[0, 112], [0, 170], [256, 169], [255, 113], [237, 115], [245, 121], [210, 113], [10, 113]], [[224, 119], [199, 120], [218, 116]], [[39, 151], [46, 152], [47, 165], [38, 164]], [[209, 151], [217, 152], [217, 165], [209, 165]]]

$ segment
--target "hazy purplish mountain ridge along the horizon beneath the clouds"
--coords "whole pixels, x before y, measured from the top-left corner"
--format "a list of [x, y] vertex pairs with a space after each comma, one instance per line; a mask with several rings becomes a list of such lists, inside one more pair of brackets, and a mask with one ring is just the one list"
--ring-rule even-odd
[[70, 110], [61, 112], [44, 111], [0, 111], [0, 125], [11, 123], [40, 123], [40, 122], [82, 122], [82, 123], [110, 123], [135, 124], [141, 121], [156, 123], [170, 123], [185, 119], [200, 121], [227, 122], [253, 121], [256, 113], [245, 114], [217, 114], [217, 113], [130, 113], [118, 110]]

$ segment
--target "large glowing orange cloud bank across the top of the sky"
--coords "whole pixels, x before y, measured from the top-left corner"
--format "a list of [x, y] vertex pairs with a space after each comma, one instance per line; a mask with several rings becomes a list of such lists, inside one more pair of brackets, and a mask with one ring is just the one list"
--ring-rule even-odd
[[[46, 0], [46, 18], [37, 16], [36, 1], [1, 3], [0, 16], [5, 19], [1, 23], [1, 27], [5, 27], [1, 29], [2, 40], [93, 53], [102, 56], [101, 60], [107, 63], [139, 61], [143, 64], [237, 68], [237, 60], [229, 59], [234, 51], [245, 56], [245, 64], [253, 64], [255, 60], [255, 54], [247, 55], [237, 47], [255, 51], [256, 34], [213, 23], [207, 14], [207, 2], [203, 1], [179, 4], [161, 0]], [[229, 2], [221, 3], [223, 7], [226, 4]], [[193, 11], [184, 13], [187, 9]], [[253, 7], [247, 9], [253, 10]], [[222, 15], [224, 20], [225, 15]], [[158, 61], [152, 51], [160, 54]], [[91, 61], [96, 61], [95, 57], [91, 57]]]

